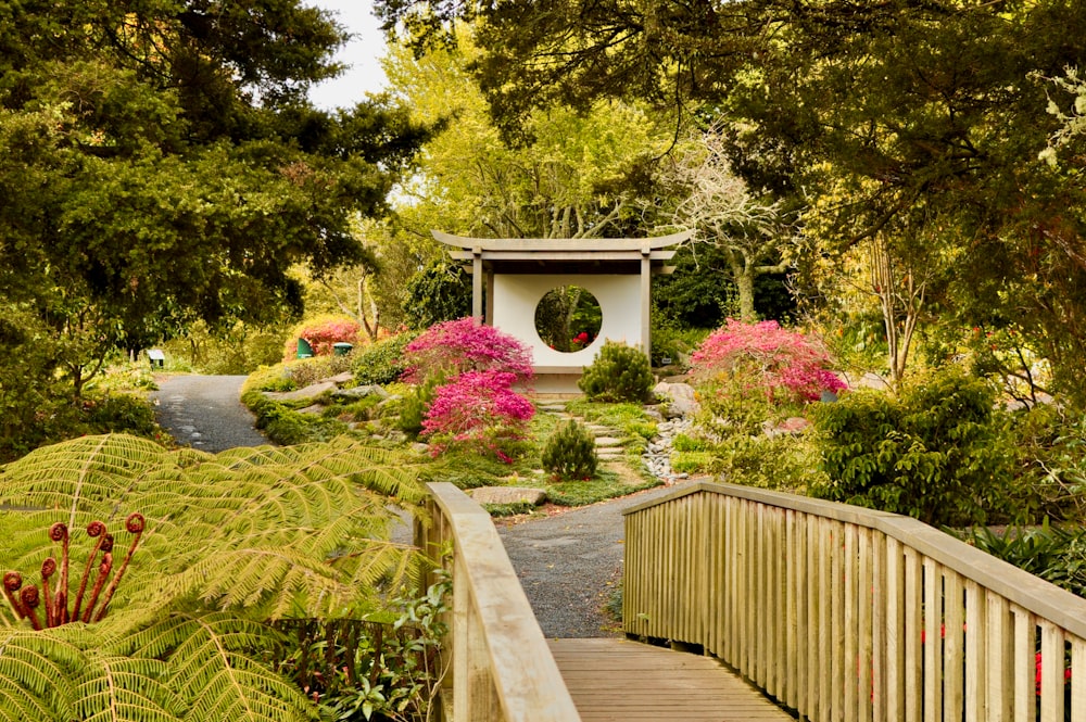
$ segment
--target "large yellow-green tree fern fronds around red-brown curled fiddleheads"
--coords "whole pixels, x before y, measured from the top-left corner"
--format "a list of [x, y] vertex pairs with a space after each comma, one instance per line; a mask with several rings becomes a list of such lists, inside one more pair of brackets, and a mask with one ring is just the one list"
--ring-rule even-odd
[[265, 659], [279, 642], [267, 622], [378, 604], [413, 569], [388, 541], [390, 505], [420, 498], [401, 456], [349, 440], [210, 455], [114, 434], [8, 465], [0, 571], [25, 584], [60, 559], [53, 523], [68, 524], [74, 594], [87, 525], [102, 521], [121, 559], [125, 518], [147, 521], [101, 622], [34, 632], [0, 603], [0, 722], [312, 718]]

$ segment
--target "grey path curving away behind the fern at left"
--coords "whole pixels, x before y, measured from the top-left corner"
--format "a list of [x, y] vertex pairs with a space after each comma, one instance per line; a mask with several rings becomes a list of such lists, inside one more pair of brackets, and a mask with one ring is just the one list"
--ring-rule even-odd
[[205, 452], [269, 443], [240, 401], [244, 376], [172, 376], [151, 395], [156, 416], [179, 444]]

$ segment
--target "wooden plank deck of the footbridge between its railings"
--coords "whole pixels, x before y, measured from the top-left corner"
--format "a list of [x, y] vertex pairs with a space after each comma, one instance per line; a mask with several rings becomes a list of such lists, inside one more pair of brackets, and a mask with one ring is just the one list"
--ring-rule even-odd
[[583, 722], [793, 718], [709, 657], [627, 639], [551, 639]]

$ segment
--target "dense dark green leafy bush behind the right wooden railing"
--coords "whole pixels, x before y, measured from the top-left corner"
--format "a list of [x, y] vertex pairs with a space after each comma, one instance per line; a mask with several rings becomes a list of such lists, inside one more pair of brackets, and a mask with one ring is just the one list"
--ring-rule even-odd
[[912, 380], [895, 398], [857, 391], [816, 410], [823, 483], [816, 496], [931, 524], [1003, 512], [1011, 448], [992, 387], [957, 368]]

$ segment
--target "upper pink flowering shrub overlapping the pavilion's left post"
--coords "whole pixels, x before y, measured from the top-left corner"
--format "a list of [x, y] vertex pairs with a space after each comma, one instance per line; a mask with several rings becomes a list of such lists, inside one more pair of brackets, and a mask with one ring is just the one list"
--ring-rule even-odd
[[419, 383], [435, 373], [452, 378], [465, 371], [497, 370], [515, 380], [532, 378], [531, 351], [508, 333], [475, 318], [431, 326], [404, 349], [408, 370], [403, 380]]

